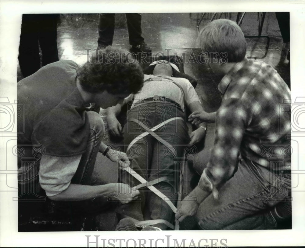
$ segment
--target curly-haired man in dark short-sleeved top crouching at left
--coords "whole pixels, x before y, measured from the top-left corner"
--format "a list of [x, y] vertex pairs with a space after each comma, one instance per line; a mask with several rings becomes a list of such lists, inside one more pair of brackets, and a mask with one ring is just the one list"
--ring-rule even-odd
[[[98, 57], [100, 63], [80, 67], [61, 60], [18, 83], [18, 103], [24, 106], [18, 119], [18, 188], [24, 195], [36, 195], [41, 186], [54, 201], [124, 195], [119, 201], [125, 203], [134, 198], [128, 190], [121, 194], [127, 185], [91, 185], [98, 152], [113, 162], [121, 161], [119, 167], [129, 163], [125, 153], [109, 152], [111, 148], [102, 142], [103, 120], [88, 109], [91, 103], [110, 107], [141, 89], [142, 69], [125, 54], [109, 48], [103, 60]], [[32, 191], [27, 190], [29, 184]]]

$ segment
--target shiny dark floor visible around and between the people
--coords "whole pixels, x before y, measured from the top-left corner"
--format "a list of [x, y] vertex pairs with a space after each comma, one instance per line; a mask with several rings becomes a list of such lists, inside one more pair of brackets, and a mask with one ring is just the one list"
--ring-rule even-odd
[[[206, 111], [216, 111], [221, 103], [221, 96], [217, 90], [217, 84], [221, 80], [220, 75], [215, 75], [207, 65], [196, 63], [196, 57], [200, 53], [196, 39], [199, 31], [210, 22], [213, 13], [206, 13], [203, 21], [196, 27], [203, 13], [143, 13], [142, 14], [142, 37], [152, 48], [152, 56], [156, 53], [164, 55], [177, 54], [184, 59], [184, 71], [191, 75], [198, 82], [196, 91], [201, 99]], [[262, 13], [260, 13], [261, 16]], [[231, 13], [232, 20], [235, 20], [237, 13]], [[224, 17], [224, 16], [222, 16]], [[228, 17], [228, 15], [227, 15]], [[89, 55], [95, 53], [98, 39], [98, 14], [61, 14], [58, 25], [57, 44], [59, 59], [74, 60], [78, 64], [87, 61]], [[219, 18], [219, 14], [216, 16]], [[246, 13], [242, 24], [242, 31], [245, 35], [257, 35], [257, 13]], [[275, 13], [266, 13], [262, 35], [268, 35], [270, 44], [266, 50], [266, 38], [246, 38], [247, 56], [257, 60], [263, 60], [270, 64], [282, 76], [290, 86], [290, 64], [287, 64], [282, 54], [282, 36], [278, 27]], [[129, 50], [128, 31], [124, 14], [116, 14], [115, 33], [113, 37], [113, 47]], [[194, 59], [195, 58], [195, 59]], [[194, 61], [195, 60], [195, 61]], [[147, 63], [143, 63], [145, 67]], [[17, 69], [17, 81], [22, 79], [20, 68]], [[100, 115], [105, 121], [105, 110], [101, 110]], [[106, 125], [107, 127], [107, 125]], [[209, 127], [213, 129], [213, 127]], [[104, 143], [120, 143], [109, 137], [106, 130]], [[200, 147], [199, 147], [200, 149]], [[191, 190], [194, 176], [192, 169], [188, 170], [188, 177], [185, 187]], [[98, 155], [95, 174], [95, 183], [109, 183], [117, 181], [116, 164]], [[195, 182], [196, 183], [196, 182]], [[92, 220], [95, 218], [92, 218]], [[56, 222], [56, 221], [55, 221]], [[87, 218], [88, 222], [88, 218]], [[58, 222], [59, 223], [59, 222]], [[107, 223], [107, 224], [105, 224]], [[38, 223], [39, 224], [39, 223]], [[113, 230], [115, 226], [115, 216], [112, 210], [105, 211], [95, 219], [96, 229]], [[67, 224], [68, 225], [68, 224]], [[43, 224], [41, 224], [43, 226]], [[51, 225], [52, 226], [52, 225]], [[25, 224], [24, 230], [30, 231]], [[181, 225], [181, 229], [196, 229], [196, 223], [189, 219]], [[67, 229], [68, 230], [68, 229]]]

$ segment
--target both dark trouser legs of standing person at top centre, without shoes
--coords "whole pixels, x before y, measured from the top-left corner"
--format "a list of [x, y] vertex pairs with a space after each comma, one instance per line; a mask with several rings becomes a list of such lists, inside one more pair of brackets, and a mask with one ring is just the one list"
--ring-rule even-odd
[[[126, 22], [131, 46], [144, 42], [141, 29], [142, 16], [139, 13], [126, 13]], [[99, 14], [99, 39], [98, 44], [111, 46], [114, 34], [115, 14]]]

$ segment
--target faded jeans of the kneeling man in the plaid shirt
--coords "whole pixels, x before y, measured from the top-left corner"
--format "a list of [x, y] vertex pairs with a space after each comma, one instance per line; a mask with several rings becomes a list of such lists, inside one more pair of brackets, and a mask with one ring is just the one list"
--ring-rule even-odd
[[[202, 173], [210, 157], [213, 130], [206, 146], [194, 159]], [[209, 144], [209, 145], [207, 145]], [[291, 175], [275, 174], [268, 168], [239, 159], [234, 176], [219, 188], [219, 200], [209, 195], [199, 206], [196, 219], [203, 230], [276, 229], [274, 206], [290, 200]]]

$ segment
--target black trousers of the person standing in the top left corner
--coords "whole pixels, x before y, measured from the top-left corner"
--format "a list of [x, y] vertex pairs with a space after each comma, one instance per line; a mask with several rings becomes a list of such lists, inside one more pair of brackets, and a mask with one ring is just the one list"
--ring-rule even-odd
[[19, 65], [23, 77], [40, 68], [39, 45], [42, 66], [59, 60], [57, 50], [58, 14], [23, 14], [19, 45]]

